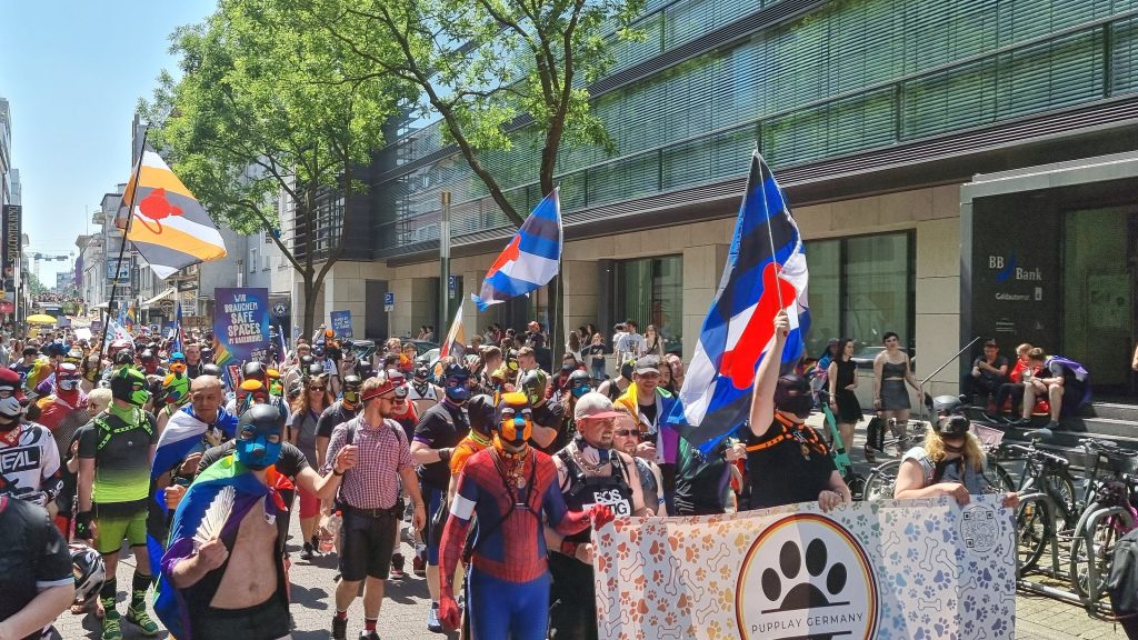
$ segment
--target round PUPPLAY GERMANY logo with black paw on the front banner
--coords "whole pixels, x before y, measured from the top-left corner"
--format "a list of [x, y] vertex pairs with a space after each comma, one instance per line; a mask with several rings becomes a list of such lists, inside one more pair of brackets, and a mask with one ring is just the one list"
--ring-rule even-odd
[[792, 514], [764, 530], [733, 597], [748, 638], [868, 640], [877, 631], [873, 564], [852, 534], [819, 514]]

